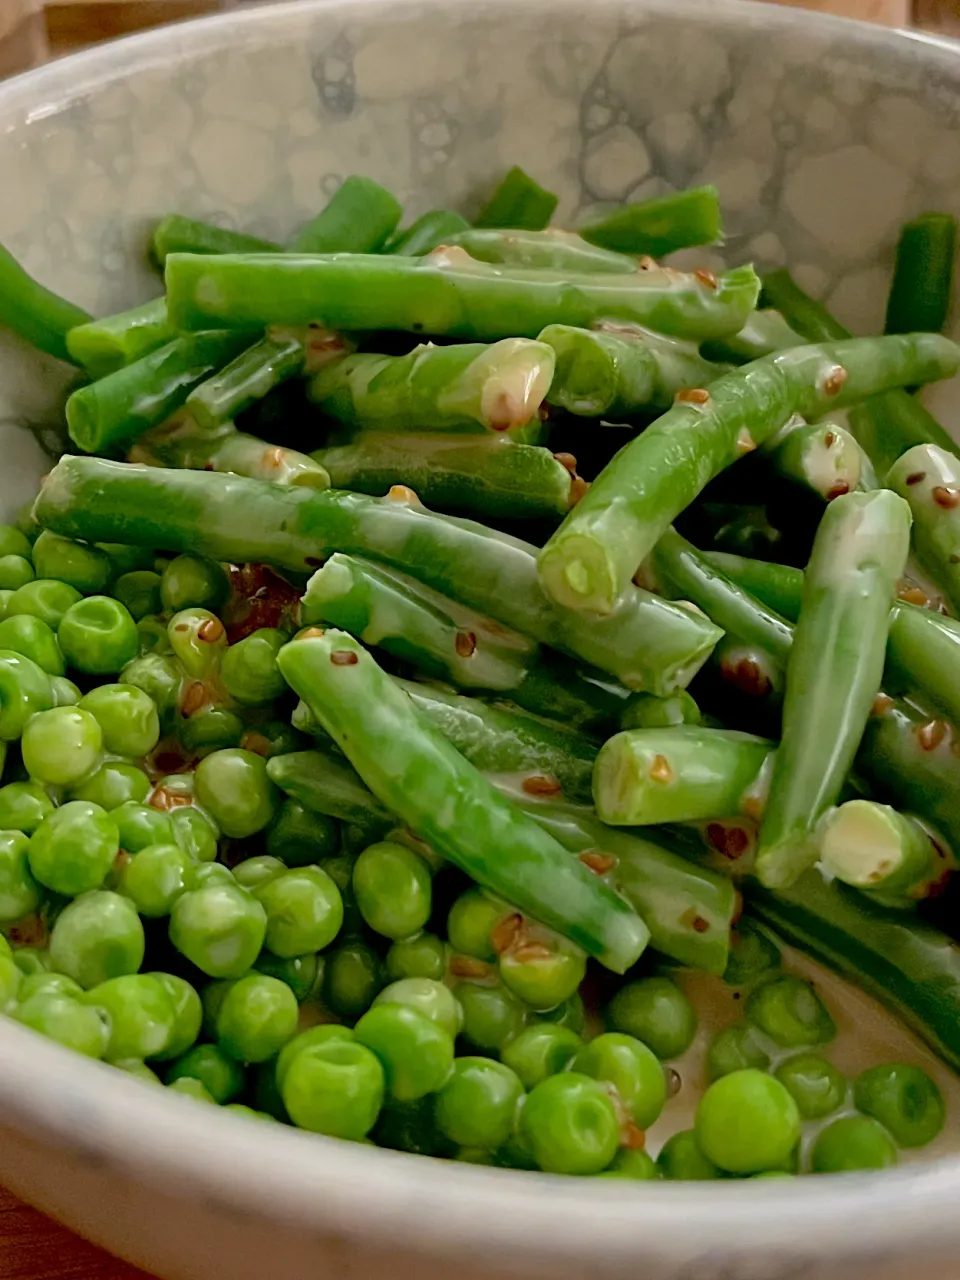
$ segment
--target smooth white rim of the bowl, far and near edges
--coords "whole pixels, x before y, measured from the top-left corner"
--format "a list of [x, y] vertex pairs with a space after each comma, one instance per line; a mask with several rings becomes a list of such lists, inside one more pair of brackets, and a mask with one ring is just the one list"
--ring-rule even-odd
[[[582, 14], [581, 0], [536, 0]], [[349, 0], [422, 12], [443, 0]], [[515, 0], [483, 0], [508, 20]], [[698, 17], [753, 31], [801, 28], [950, 68], [957, 46], [920, 32], [751, 0], [591, 0], [591, 10]], [[216, 50], [344, 0], [291, 0], [161, 27], [74, 54], [0, 84], [0, 115], [41, 119], [118, 74], [170, 65], [189, 47]], [[471, 1258], [554, 1256], [627, 1266], [644, 1257], [768, 1256], [837, 1262], [943, 1248], [960, 1240], [960, 1157], [842, 1180], [634, 1183], [550, 1178], [424, 1160], [333, 1142], [287, 1126], [239, 1123], [214, 1107], [124, 1076], [0, 1020], [0, 1121], [174, 1194], [388, 1249]], [[799, 1243], [797, 1243], [799, 1242]]]

